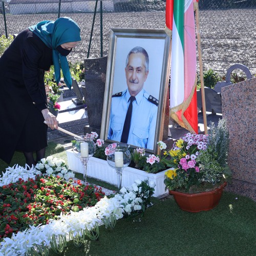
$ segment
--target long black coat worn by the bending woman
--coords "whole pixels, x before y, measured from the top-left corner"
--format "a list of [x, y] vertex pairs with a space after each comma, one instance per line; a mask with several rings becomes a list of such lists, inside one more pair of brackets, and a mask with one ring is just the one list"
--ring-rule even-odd
[[10, 163], [15, 150], [33, 152], [47, 146], [44, 73], [52, 49], [34, 33], [20, 32], [0, 58], [0, 158]]

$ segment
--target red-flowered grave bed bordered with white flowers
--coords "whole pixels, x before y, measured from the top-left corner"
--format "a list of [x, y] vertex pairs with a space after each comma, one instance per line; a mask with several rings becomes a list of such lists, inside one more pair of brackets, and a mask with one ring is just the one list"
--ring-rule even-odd
[[[98, 201], [98, 199], [101, 198], [100, 189], [96, 188], [96, 191], [94, 190], [95, 197], [88, 198], [88, 189], [78, 191], [81, 186], [87, 188], [88, 185], [81, 185], [81, 182], [77, 181], [76, 186], [73, 186], [70, 184], [72, 180], [65, 181], [59, 178], [58, 175], [56, 175], [56, 177], [53, 176], [56, 172], [61, 173], [61, 168], [59, 169], [58, 167], [60, 166], [57, 165], [62, 165], [62, 171], [65, 170], [65, 163], [63, 163], [62, 160], [55, 160], [52, 157], [48, 157], [41, 161], [45, 162], [44, 166], [41, 164], [37, 165], [41, 170], [44, 168], [49, 170], [53, 167], [53, 174], [51, 174], [50, 178], [38, 177], [37, 173], [39, 171], [36, 168], [25, 169], [18, 165], [7, 168], [6, 173], [3, 173], [3, 177], [0, 177], [0, 196], [3, 197], [0, 202], [5, 204], [5, 206], [0, 206], [3, 212], [5, 211], [5, 215], [3, 215], [1, 219], [6, 219], [4, 222], [1, 221], [0, 229], [4, 228], [5, 230], [8, 228], [8, 230], [5, 230], [5, 234], [8, 236], [13, 232], [11, 238], [5, 237], [0, 243], [0, 256], [49, 255], [50, 248], [55, 253], [62, 253], [67, 246], [67, 241], [73, 240], [75, 246], [79, 247], [85, 243], [88, 238], [96, 240], [99, 236], [99, 225], [104, 225], [106, 228], [113, 228], [116, 220], [123, 218], [123, 216], [143, 216], [147, 206], [150, 205], [150, 198], [153, 195], [155, 185], [149, 184], [147, 180], [137, 180], [131, 187], [123, 187], [121, 189], [122, 191], [120, 191], [121, 193], [115, 195], [115, 197], [111, 199], [104, 197]], [[50, 167], [50, 165], [52, 165], [52, 167]], [[51, 169], [50, 172], [52, 172]], [[63, 184], [60, 185], [59, 182], [54, 182], [58, 180], [61, 180]], [[11, 181], [11, 183], [8, 183], [9, 181]], [[15, 189], [12, 190], [11, 188], [13, 186], [15, 186]], [[38, 190], [34, 191], [33, 189]], [[60, 198], [61, 195], [64, 194], [61, 200], [57, 200], [56, 196], [54, 196], [56, 191], [59, 191]], [[10, 193], [14, 193], [15, 195]], [[58, 209], [64, 209], [64, 207], [68, 207], [69, 204], [71, 204], [72, 199], [69, 197], [72, 195], [73, 205], [77, 205], [75, 205], [67, 215], [63, 215], [63, 211], [60, 210], [60, 216], [56, 217], [55, 213]], [[30, 212], [25, 218], [21, 216], [18, 218], [18, 215], [14, 215], [13, 212], [15, 212], [15, 210], [19, 212], [19, 208], [21, 207], [18, 207], [16, 201], [19, 201], [22, 197], [23, 202], [19, 202], [20, 206], [28, 208]], [[64, 197], [66, 197], [66, 199]], [[50, 207], [47, 207], [45, 203], [40, 207], [40, 205], [38, 205], [40, 201], [39, 198], [45, 203], [49, 201]], [[83, 202], [84, 198], [86, 202]], [[95, 206], [88, 208], [88, 202], [93, 201], [93, 198], [98, 202]], [[34, 202], [32, 202], [33, 199]], [[8, 200], [12, 200], [12, 202]], [[27, 202], [25, 202], [25, 200], [27, 200]], [[31, 200], [33, 207], [28, 204], [28, 200]], [[32, 212], [37, 212], [40, 217], [44, 217], [44, 215], [40, 215], [41, 211], [48, 210], [50, 212], [51, 206], [54, 205], [55, 202], [55, 205], [58, 206], [51, 212], [52, 215], [50, 215], [49, 218], [52, 218], [52, 220], [48, 219], [45, 221], [47, 225], [41, 225], [45, 218], [41, 219], [40, 224], [39, 222], [33, 223], [32, 220], [36, 219], [34, 217], [37, 215], [32, 215]], [[79, 207], [82, 204], [86, 206], [83, 209]], [[27, 207], [27, 205], [31, 207]], [[24, 228], [26, 228], [28, 226], [26, 224], [30, 224], [28, 228], [25, 230], [23, 228], [24, 231], [22, 231], [22, 229], [20, 229], [20, 231], [18, 231], [18, 229], [14, 230], [14, 228], [11, 230], [10, 224], [15, 225], [18, 219], [22, 221], [25, 219], [26, 222], [27, 217], [31, 217], [31, 221], [24, 225]], [[40, 217], [37, 218], [37, 220], [40, 220]], [[57, 219], [54, 220], [54, 218]], [[6, 221], [9, 222], [9, 224], [7, 224]], [[35, 227], [33, 224], [39, 225]], [[5, 225], [5, 227], [3, 225]]]

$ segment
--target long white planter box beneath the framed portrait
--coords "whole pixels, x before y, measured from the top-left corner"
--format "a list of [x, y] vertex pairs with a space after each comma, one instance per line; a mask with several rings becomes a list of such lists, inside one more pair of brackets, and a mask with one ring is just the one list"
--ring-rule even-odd
[[[79, 158], [74, 156], [72, 149], [67, 150], [68, 166], [77, 173], [83, 173], [82, 163]], [[165, 190], [163, 170], [158, 174], [146, 173], [143, 170], [126, 167], [122, 172], [122, 186], [130, 186], [136, 179], [154, 181], [156, 183], [154, 197], [162, 197], [168, 194]], [[111, 184], [117, 184], [117, 175], [114, 168], [110, 167], [108, 162], [102, 159], [91, 157], [87, 164], [87, 176], [102, 180]]]

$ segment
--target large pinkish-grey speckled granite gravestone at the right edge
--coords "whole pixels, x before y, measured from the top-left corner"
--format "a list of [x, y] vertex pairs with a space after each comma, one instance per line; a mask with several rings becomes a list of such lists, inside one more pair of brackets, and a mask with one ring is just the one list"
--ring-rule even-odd
[[230, 134], [228, 166], [232, 183], [226, 189], [256, 201], [256, 78], [224, 87], [221, 95], [222, 114]]

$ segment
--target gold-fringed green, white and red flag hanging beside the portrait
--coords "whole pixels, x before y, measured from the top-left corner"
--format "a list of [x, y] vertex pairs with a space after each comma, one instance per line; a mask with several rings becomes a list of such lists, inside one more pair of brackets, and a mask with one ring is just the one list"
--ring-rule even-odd
[[172, 36], [170, 117], [198, 133], [197, 55], [194, 5], [196, 0], [166, 0], [166, 28]]

